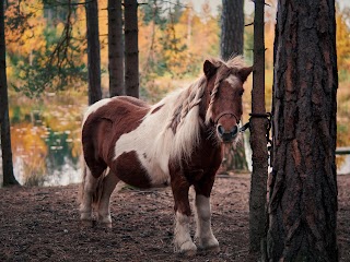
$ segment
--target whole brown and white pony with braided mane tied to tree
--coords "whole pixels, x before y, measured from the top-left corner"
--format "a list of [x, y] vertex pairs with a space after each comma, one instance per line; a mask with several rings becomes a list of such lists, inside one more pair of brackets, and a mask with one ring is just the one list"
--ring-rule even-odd
[[[219, 250], [211, 230], [210, 192], [223, 144], [237, 140], [243, 83], [252, 72], [241, 57], [206, 60], [205, 74], [187, 88], [150, 106], [119, 96], [92, 105], [82, 124], [84, 155], [81, 219], [112, 225], [109, 198], [117, 182], [150, 188], [171, 184], [175, 251]], [[196, 245], [190, 237], [188, 190], [196, 191]], [[96, 196], [97, 194], [97, 196]]]

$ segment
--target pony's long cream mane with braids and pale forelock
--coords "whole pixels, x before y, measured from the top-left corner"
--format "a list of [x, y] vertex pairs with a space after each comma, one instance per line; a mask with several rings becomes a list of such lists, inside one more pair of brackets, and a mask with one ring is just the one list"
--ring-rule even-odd
[[[242, 56], [236, 56], [228, 61], [222, 59], [209, 59], [213, 64], [218, 64], [214, 90], [211, 94], [210, 105], [206, 114], [206, 123], [211, 117], [211, 106], [220, 82], [228, 78], [234, 69], [245, 67]], [[225, 67], [221, 67], [225, 66]], [[194, 148], [200, 142], [200, 127], [205, 123], [199, 117], [199, 105], [207, 86], [205, 75], [190, 84], [187, 88], [173, 93], [163, 98], [158, 105], [171, 104], [167, 124], [163, 130], [164, 140], [172, 140], [170, 157], [175, 160], [189, 158]], [[158, 106], [155, 105], [155, 106]], [[171, 135], [172, 133], [173, 135]], [[173, 139], [171, 139], [173, 136]]]

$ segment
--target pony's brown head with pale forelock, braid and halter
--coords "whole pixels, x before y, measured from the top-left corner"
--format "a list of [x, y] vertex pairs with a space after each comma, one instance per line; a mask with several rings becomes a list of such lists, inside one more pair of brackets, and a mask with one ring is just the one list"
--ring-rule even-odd
[[207, 86], [203, 94], [206, 123], [213, 124], [220, 142], [232, 143], [240, 132], [243, 114], [243, 83], [253, 67], [245, 67], [242, 57], [226, 62], [217, 59], [206, 60], [203, 71]]

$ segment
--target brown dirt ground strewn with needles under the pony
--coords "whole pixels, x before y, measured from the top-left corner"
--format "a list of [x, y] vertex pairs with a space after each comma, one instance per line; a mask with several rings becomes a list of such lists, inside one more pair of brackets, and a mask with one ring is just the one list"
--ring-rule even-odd
[[[258, 261], [248, 252], [249, 175], [221, 176], [212, 227], [221, 251], [174, 254], [170, 189], [122, 189], [112, 200], [114, 227], [82, 228], [78, 184], [0, 189], [0, 261]], [[338, 176], [340, 261], [350, 261], [350, 176]], [[194, 228], [192, 228], [194, 231]]]

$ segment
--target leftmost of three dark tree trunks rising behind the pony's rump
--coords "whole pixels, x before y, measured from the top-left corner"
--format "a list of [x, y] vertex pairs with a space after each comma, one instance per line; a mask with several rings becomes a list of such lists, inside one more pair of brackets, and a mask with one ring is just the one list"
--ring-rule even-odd
[[92, 105], [102, 98], [97, 0], [86, 1], [85, 10], [88, 29], [89, 105]]

